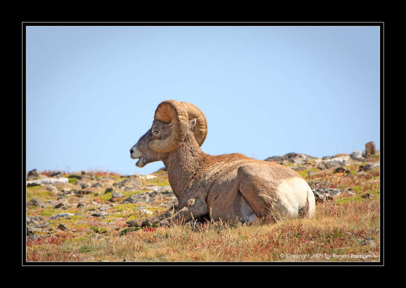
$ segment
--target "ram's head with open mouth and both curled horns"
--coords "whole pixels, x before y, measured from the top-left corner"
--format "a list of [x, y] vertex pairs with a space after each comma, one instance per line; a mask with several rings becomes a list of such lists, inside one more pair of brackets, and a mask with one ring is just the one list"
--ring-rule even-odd
[[131, 147], [130, 156], [132, 159], [139, 158], [138, 167], [161, 161], [181, 145], [189, 130], [193, 131], [201, 146], [207, 136], [205, 115], [191, 103], [165, 100], [155, 111], [151, 129]]

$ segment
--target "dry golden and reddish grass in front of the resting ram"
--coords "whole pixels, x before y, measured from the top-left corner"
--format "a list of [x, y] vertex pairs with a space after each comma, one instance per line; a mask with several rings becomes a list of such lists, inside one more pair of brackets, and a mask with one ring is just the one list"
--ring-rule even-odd
[[[352, 171], [357, 171], [357, 166]], [[331, 188], [351, 188], [335, 202], [316, 205], [312, 219], [293, 219], [276, 224], [251, 225], [206, 222], [201, 225], [173, 223], [171, 227], [128, 228], [134, 204], [117, 205], [106, 219], [88, 217], [83, 211], [71, 219], [50, 221], [55, 230], [26, 242], [28, 262], [379, 262], [379, 170], [353, 176], [321, 171], [308, 181], [326, 181]], [[154, 184], [166, 184], [160, 174]], [[30, 190], [41, 193], [41, 189]], [[373, 198], [362, 198], [370, 193]], [[45, 197], [43, 195], [43, 197]], [[91, 196], [89, 196], [91, 197]], [[75, 208], [76, 209], [76, 208]], [[79, 208], [77, 208], [79, 209]], [[116, 209], [116, 210], [114, 210]], [[153, 207], [150, 210], [154, 211]], [[27, 214], [49, 215], [43, 209]], [[52, 211], [53, 213], [54, 211]], [[48, 213], [48, 214], [47, 214]], [[60, 231], [64, 223], [69, 229]], [[41, 234], [41, 233], [40, 233]], [[356, 256], [356, 257], [354, 257]]]

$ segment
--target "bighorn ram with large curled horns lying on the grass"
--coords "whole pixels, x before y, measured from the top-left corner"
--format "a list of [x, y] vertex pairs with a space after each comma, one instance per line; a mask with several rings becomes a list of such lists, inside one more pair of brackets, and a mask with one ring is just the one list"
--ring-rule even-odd
[[139, 159], [138, 167], [162, 161], [179, 204], [172, 214], [168, 210], [127, 224], [166, 225], [171, 219], [187, 222], [204, 215], [214, 221], [253, 222], [314, 214], [314, 194], [299, 173], [243, 154], [206, 154], [200, 146], [207, 131], [206, 117], [195, 105], [177, 100], [158, 105], [151, 129], [130, 156]]

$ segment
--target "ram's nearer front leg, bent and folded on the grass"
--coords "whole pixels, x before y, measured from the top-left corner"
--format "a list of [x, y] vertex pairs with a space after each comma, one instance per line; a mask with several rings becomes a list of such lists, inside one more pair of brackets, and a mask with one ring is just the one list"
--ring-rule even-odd
[[[181, 206], [180, 206], [181, 207]], [[200, 198], [191, 198], [171, 217], [160, 221], [160, 225], [170, 225], [171, 222], [188, 222], [208, 213], [207, 204]]]

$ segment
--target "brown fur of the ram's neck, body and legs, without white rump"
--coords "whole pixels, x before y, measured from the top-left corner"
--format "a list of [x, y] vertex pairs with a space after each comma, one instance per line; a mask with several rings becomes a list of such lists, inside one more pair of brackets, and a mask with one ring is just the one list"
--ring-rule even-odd
[[[179, 199], [173, 219], [189, 221], [210, 214], [214, 220], [244, 222], [252, 214], [266, 217], [272, 214], [279, 184], [290, 177], [302, 178], [288, 167], [251, 159], [243, 154], [206, 154], [196, 142], [192, 128], [189, 127], [181, 145], [168, 153], [150, 152], [145, 143], [155, 136], [147, 133], [136, 145], [147, 156], [151, 153], [159, 158], [152, 161], [163, 161], [168, 180]], [[306, 207], [301, 209], [306, 210]], [[168, 214], [167, 211], [159, 216], [127, 223], [143, 226], [160, 220], [161, 224], [167, 224], [164, 218]]]

